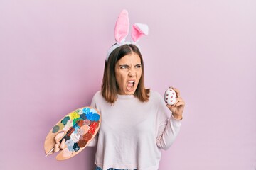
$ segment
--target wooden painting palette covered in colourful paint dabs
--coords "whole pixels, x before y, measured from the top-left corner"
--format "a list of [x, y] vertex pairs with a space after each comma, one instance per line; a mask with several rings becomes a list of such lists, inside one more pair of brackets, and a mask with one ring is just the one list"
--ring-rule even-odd
[[[65, 115], [46, 136], [44, 149], [48, 153], [55, 146], [55, 136], [63, 133], [65, 147], [56, 156], [57, 160], [74, 157], [85, 149], [100, 128], [100, 112], [95, 108], [83, 107]], [[65, 135], [64, 135], [65, 134]]]

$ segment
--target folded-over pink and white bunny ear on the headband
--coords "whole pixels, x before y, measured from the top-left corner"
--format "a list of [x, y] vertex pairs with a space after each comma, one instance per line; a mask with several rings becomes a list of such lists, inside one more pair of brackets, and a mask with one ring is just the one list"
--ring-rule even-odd
[[149, 26], [144, 23], [134, 23], [132, 26], [132, 40], [137, 42], [142, 35], [149, 34]]

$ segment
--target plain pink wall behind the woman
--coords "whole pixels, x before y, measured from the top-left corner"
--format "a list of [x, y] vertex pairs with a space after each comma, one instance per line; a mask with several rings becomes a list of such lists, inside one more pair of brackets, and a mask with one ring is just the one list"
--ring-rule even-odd
[[50, 128], [100, 89], [123, 8], [149, 25], [146, 86], [186, 101], [159, 169], [255, 170], [256, 1], [0, 1], [0, 169], [93, 169], [95, 148], [45, 158]]

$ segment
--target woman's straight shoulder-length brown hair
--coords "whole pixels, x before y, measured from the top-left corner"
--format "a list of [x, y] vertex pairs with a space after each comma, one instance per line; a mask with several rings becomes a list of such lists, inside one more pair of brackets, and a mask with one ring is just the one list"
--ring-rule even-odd
[[149, 101], [150, 89], [145, 89], [144, 87], [144, 63], [142, 59], [142, 54], [139, 52], [139, 49], [136, 45], [129, 44], [117, 47], [113, 52], [111, 52], [110, 57], [105, 62], [101, 92], [102, 96], [108, 103], [113, 104], [117, 100], [118, 85], [114, 72], [115, 65], [117, 64], [118, 60], [120, 60], [125, 55], [131, 54], [132, 52], [137, 53], [142, 62], [142, 77], [139, 80], [139, 84], [134, 93], [134, 96], [139, 98], [139, 101]]

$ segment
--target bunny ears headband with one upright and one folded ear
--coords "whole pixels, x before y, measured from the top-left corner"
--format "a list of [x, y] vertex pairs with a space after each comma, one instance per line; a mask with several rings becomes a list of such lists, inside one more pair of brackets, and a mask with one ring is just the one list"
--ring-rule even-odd
[[116, 40], [116, 44], [114, 44], [112, 47], [110, 47], [110, 50], [107, 51], [107, 58], [110, 57], [111, 52], [114, 51], [117, 47], [120, 47], [122, 45], [127, 44], [134, 44], [138, 47], [137, 42], [142, 37], [142, 35], [148, 35], [149, 34], [149, 27], [146, 24], [143, 23], [134, 23], [132, 26], [132, 42], [125, 41], [125, 38], [127, 38], [127, 35], [129, 33], [129, 17], [128, 12], [126, 10], [123, 10], [119, 17], [117, 18], [116, 25], [114, 27], [114, 38]]

